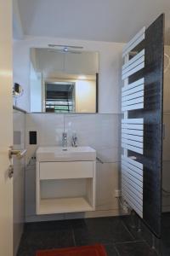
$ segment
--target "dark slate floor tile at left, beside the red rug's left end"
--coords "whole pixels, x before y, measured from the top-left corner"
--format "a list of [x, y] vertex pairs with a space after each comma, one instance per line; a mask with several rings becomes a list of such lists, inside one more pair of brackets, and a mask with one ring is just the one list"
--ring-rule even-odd
[[73, 231], [66, 222], [26, 224], [17, 256], [34, 256], [37, 250], [72, 246]]

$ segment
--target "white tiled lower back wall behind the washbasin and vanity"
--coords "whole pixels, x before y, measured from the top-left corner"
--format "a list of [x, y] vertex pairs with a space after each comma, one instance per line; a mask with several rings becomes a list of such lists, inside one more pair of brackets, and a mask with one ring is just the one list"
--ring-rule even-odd
[[[119, 187], [119, 127], [120, 114], [26, 114], [26, 220], [78, 218], [84, 216], [105, 216], [119, 213], [115, 189]], [[29, 131], [37, 131], [37, 145], [29, 144]], [[35, 155], [38, 146], [61, 146], [62, 132], [68, 133], [71, 145], [73, 132], [77, 133], [79, 146], [91, 146], [103, 162], [97, 164], [97, 207], [95, 212], [85, 214], [58, 214], [37, 217], [35, 212]]]

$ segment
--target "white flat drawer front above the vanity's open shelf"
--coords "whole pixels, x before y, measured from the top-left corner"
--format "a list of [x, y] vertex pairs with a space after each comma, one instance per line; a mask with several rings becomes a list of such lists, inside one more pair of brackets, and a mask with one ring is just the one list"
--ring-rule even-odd
[[93, 177], [93, 161], [42, 162], [40, 179], [63, 179]]

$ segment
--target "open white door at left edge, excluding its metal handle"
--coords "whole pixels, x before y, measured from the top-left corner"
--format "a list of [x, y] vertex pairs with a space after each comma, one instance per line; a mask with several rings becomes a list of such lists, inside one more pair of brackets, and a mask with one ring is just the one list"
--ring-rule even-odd
[[13, 178], [8, 148], [13, 144], [12, 0], [0, 0], [0, 255], [13, 255]]

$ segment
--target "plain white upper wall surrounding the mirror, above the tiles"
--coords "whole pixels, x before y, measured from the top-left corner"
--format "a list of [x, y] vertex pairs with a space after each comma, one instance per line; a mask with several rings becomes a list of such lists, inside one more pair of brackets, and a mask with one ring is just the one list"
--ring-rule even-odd
[[62, 38], [34, 38], [14, 41], [14, 82], [24, 87], [18, 107], [30, 111], [30, 48], [45, 48], [48, 44], [83, 46], [99, 51], [99, 113], [120, 113], [122, 47], [124, 44], [81, 41]]

